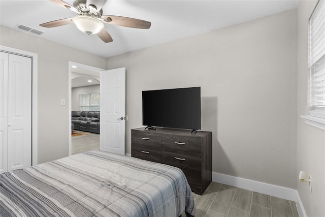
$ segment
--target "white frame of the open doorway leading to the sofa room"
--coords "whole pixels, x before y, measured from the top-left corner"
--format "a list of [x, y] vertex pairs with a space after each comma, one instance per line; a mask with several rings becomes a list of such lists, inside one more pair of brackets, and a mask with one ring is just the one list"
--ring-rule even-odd
[[[94, 71], [94, 72], [102, 72], [105, 71], [105, 69], [101, 69], [101, 68], [96, 68], [96, 67], [92, 67], [92, 66], [88, 66], [88, 65], [84, 65], [84, 64], [79, 64], [73, 61], [69, 61], [69, 75], [68, 75], [68, 79], [69, 79], [69, 85], [68, 85], [68, 92], [69, 92], [69, 97], [68, 97], [68, 104], [69, 104], [69, 118], [68, 118], [68, 129], [71, 129], [71, 111], [72, 111], [72, 105], [71, 105], [71, 88], [72, 88], [72, 84], [71, 84], [71, 78], [72, 78], [72, 66], [76, 66], [77, 68], [81, 68], [81, 69], [85, 69], [85, 70], [89, 70], [89, 71]], [[72, 143], [72, 136], [71, 133], [69, 133], [69, 156], [71, 156], [71, 143]]]

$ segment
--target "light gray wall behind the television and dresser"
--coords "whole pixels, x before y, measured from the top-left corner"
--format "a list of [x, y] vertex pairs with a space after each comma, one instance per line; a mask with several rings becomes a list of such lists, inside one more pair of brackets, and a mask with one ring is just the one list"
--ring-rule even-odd
[[213, 172], [296, 189], [297, 10], [107, 59], [126, 67], [126, 152], [142, 90], [201, 86]]

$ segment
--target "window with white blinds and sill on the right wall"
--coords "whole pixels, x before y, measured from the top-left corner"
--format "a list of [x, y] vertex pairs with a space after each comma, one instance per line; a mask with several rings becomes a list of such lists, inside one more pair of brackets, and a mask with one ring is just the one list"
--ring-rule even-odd
[[[319, 0], [309, 19], [308, 34], [308, 116], [309, 123], [325, 130], [325, 1]], [[311, 121], [313, 123], [310, 123]]]

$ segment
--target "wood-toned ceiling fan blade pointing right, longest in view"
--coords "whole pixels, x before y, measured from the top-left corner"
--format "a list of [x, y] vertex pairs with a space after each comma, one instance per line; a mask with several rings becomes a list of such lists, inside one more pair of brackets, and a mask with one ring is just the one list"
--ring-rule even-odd
[[103, 15], [102, 19], [103, 22], [113, 24], [113, 25], [125, 26], [125, 27], [148, 29], [151, 26], [151, 22], [149, 21], [139, 20], [131, 17]]

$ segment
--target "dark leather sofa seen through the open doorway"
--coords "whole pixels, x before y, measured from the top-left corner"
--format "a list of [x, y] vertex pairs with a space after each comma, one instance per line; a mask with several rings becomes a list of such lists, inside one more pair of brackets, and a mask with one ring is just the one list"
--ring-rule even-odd
[[100, 111], [72, 111], [74, 130], [100, 133]]

